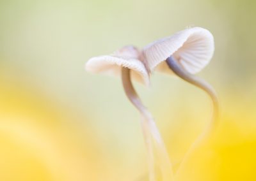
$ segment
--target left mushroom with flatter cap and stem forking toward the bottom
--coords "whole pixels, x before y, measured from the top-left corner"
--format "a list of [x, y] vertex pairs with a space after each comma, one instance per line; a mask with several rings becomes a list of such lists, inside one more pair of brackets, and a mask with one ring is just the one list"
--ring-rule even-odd
[[[156, 143], [156, 151], [160, 156], [160, 167], [163, 178], [171, 180], [173, 177], [172, 166], [170, 164], [166, 148], [164, 147], [164, 142], [151, 113], [148, 112], [147, 108], [141, 103], [141, 100], [131, 82], [132, 78], [144, 85], [149, 85], [149, 73], [145, 68], [141, 52], [133, 46], [126, 46], [116, 52], [113, 52], [111, 55], [102, 55], [91, 58], [86, 62], [85, 68], [87, 71], [92, 73], [105, 73], [108, 75], [122, 76], [122, 83], [126, 96], [131, 101], [132, 105], [139, 110], [143, 117], [141, 126], [148, 152], [149, 180], [155, 180], [153, 143]], [[154, 141], [151, 140], [152, 138]]]

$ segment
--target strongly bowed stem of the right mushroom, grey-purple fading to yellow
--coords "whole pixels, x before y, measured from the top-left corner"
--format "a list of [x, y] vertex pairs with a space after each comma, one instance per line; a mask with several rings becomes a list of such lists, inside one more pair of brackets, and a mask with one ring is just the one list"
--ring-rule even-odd
[[166, 59], [166, 62], [168, 64], [169, 68], [172, 69], [172, 71], [177, 76], [179, 76], [180, 78], [182, 78], [186, 82], [189, 82], [189, 83], [195, 85], [196, 87], [199, 87], [200, 89], [207, 92], [207, 94], [209, 94], [209, 96], [212, 99], [212, 105], [213, 105], [212, 120], [209, 123], [209, 126], [207, 126], [205, 131], [202, 134], [200, 134], [200, 136], [198, 136], [196, 141], [191, 145], [188, 152], [185, 154], [184, 159], [182, 159], [182, 162], [180, 163], [180, 167], [177, 170], [177, 173], [179, 173], [179, 171], [182, 168], [184, 162], [188, 159], [188, 156], [195, 149], [195, 147], [200, 143], [200, 141], [202, 141], [204, 138], [206, 138], [207, 135], [209, 136], [211, 133], [214, 133], [214, 130], [218, 126], [220, 106], [219, 106], [219, 101], [218, 101], [217, 94], [209, 83], [207, 83], [207, 82], [205, 82], [205, 80], [202, 80], [201, 78], [193, 76], [190, 73], [188, 73], [187, 71], [185, 71], [184, 68], [182, 68], [182, 66], [180, 66], [180, 64], [177, 63], [177, 61], [172, 56], [168, 57], [168, 59]]

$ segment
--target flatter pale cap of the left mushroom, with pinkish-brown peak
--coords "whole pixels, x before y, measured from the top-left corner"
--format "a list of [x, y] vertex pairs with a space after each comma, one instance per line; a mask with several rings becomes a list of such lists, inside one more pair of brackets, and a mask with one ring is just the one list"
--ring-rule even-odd
[[104, 73], [105, 75], [120, 76], [122, 68], [131, 69], [131, 78], [144, 85], [149, 85], [149, 75], [143, 61], [140, 61], [141, 52], [133, 46], [125, 46], [111, 55], [92, 57], [86, 62], [86, 71]]

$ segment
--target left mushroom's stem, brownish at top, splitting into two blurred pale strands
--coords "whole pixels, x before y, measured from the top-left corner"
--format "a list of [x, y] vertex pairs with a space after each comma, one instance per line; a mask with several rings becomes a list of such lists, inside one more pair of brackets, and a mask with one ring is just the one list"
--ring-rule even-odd
[[152, 144], [151, 138], [154, 138], [156, 143], [156, 151], [157, 151], [157, 156], [159, 156], [160, 168], [161, 168], [163, 180], [172, 180], [173, 179], [172, 165], [170, 163], [168, 153], [164, 146], [164, 142], [156, 127], [156, 124], [154, 122], [154, 119], [151, 113], [148, 112], [147, 108], [145, 108], [145, 106], [141, 103], [141, 100], [132, 85], [130, 73], [131, 73], [130, 69], [122, 68], [122, 83], [124, 86], [126, 96], [131, 101], [132, 105], [134, 105], [138, 109], [138, 111], [141, 113], [143, 117], [141, 126], [143, 129], [143, 136], [145, 139], [145, 144], [148, 152], [149, 180], [150, 181], [155, 180], [154, 146]]

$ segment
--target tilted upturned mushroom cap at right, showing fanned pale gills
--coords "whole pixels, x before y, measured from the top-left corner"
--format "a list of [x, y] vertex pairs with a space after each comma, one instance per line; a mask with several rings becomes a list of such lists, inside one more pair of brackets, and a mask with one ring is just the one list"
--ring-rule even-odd
[[[143, 48], [147, 68], [153, 71], [172, 73], [166, 59], [171, 55], [191, 74], [201, 71], [211, 60], [214, 53], [214, 38], [202, 27], [191, 27], [173, 36], [150, 43]], [[158, 66], [159, 65], [159, 66]]]

